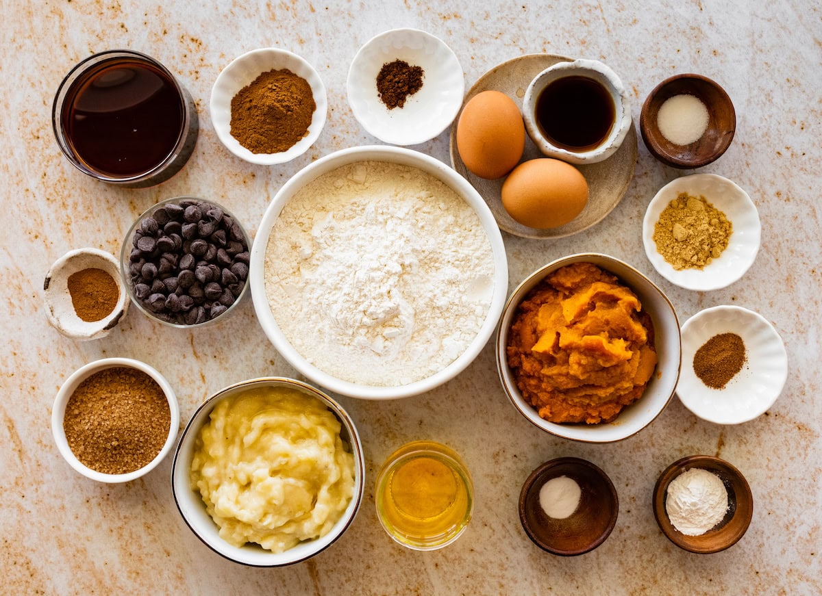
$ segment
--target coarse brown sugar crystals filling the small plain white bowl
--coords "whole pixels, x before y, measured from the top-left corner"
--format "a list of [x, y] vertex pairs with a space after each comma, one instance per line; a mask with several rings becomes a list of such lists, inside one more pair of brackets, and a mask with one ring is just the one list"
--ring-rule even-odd
[[171, 410], [162, 387], [124, 366], [86, 378], [66, 405], [63, 429], [72, 453], [92, 470], [127, 474], [148, 465], [169, 437]]

